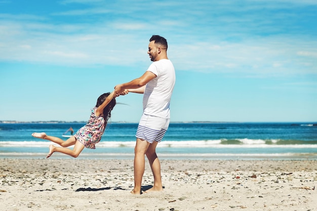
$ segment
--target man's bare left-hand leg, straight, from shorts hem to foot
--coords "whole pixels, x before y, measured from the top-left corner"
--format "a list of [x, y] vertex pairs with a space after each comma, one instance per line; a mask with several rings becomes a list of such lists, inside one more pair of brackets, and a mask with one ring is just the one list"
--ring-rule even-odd
[[145, 152], [150, 143], [137, 138], [137, 142], [134, 148], [134, 189], [132, 194], [141, 194], [141, 183], [145, 169]]

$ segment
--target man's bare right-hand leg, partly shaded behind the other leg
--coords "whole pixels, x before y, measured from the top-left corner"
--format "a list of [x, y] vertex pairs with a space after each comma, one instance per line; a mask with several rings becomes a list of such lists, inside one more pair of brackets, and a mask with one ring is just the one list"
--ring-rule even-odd
[[153, 192], [153, 191], [163, 191], [162, 178], [161, 178], [161, 164], [155, 151], [157, 143], [159, 142], [154, 141], [153, 143], [151, 143], [145, 153], [149, 161], [149, 164], [153, 173], [153, 177], [154, 177], [154, 185], [152, 188], [145, 191], [146, 193]]

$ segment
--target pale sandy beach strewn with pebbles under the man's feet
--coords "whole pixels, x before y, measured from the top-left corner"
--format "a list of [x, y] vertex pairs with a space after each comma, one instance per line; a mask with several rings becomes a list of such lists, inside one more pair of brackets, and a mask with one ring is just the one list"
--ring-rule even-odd
[[317, 161], [161, 160], [164, 191], [142, 195], [132, 160], [0, 161], [0, 210], [317, 210]]

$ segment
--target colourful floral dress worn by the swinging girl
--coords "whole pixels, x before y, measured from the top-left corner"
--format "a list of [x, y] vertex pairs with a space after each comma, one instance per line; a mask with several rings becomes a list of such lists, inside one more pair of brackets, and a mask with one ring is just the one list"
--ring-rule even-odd
[[74, 137], [77, 141], [85, 145], [86, 148], [95, 149], [95, 144], [101, 139], [105, 130], [105, 121], [103, 115], [96, 116], [97, 107], [91, 110], [88, 123], [79, 129]]

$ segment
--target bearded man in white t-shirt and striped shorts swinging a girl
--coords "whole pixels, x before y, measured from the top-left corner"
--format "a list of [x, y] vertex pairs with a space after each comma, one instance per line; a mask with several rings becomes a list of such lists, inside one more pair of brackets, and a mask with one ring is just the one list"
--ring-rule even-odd
[[153, 62], [139, 78], [114, 87], [116, 93], [143, 93], [143, 114], [136, 132], [134, 149], [134, 189], [133, 194], [141, 194], [141, 183], [145, 169], [145, 157], [149, 161], [153, 177], [153, 187], [146, 192], [163, 191], [161, 164], [155, 149], [170, 123], [170, 100], [175, 85], [175, 70], [167, 58], [167, 41], [153, 35], [147, 54]]

